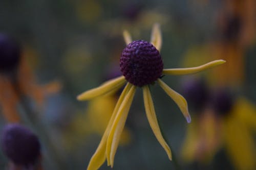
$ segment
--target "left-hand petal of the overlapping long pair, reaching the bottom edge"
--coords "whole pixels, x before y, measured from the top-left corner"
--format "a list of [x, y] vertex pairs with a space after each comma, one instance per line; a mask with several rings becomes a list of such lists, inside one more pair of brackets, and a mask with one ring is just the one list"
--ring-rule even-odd
[[115, 106], [115, 109], [113, 111], [113, 114], [110, 118], [110, 121], [108, 123], [108, 126], [106, 127], [106, 130], [101, 138], [101, 141], [99, 143], [99, 146], [96, 150], [96, 152], [94, 153], [94, 155], [92, 156], [91, 160], [90, 160], [90, 163], [87, 167], [87, 170], [95, 170], [95, 169], [98, 169], [103, 163], [104, 161], [106, 160], [106, 140], [108, 139], [108, 136], [109, 136], [109, 132], [110, 132], [110, 128], [112, 127], [112, 124], [114, 122], [114, 119], [116, 117], [116, 113], [117, 113], [117, 110], [119, 109], [123, 99], [124, 99], [124, 96], [125, 94], [127, 93], [127, 91], [129, 91], [131, 88], [131, 84], [130, 83], [127, 83], [127, 85], [125, 86], [125, 88], [123, 89], [118, 101], [117, 101], [117, 104]]

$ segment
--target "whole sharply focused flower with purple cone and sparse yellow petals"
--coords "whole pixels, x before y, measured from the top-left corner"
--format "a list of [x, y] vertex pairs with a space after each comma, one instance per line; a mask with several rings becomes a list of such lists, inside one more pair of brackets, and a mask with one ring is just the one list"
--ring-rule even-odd
[[120, 136], [137, 87], [141, 87], [143, 90], [144, 106], [148, 122], [150, 123], [157, 140], [167, 153], [168, 158], [172, 160], [170, 148], [164, 140], [157, 122], [150, 85], [157, 81], [162, 89], [176, 102], [187, 122], [190, 123], [190, 115], [188, 113], [186, 100], [161, 80], [162, 74], [193, 74], [225, 63], [224, 60], [216, 60], [198, 67], [163, 69], [163, 61], [159, 53], [162, 38], [160, 26], [158, 24], [153, 26], [151, 42], [143, 40], [132, 41], [132, 38], [127, 31], [123, 32], [123, 36], [127, 44], [120, 57], [120, 70], [122, 71], [123, 76], [109, 80], [101, 86], [83, 92], [77, 96], [78, 100], [90, 100], [97, 96], [116, 91], [127, 82], [117, 101], [100, 144], [91, 158], [88, 169], [98, 169], [104, 163], [105, 159], [108, 161], [108, 165], [113, 167]]

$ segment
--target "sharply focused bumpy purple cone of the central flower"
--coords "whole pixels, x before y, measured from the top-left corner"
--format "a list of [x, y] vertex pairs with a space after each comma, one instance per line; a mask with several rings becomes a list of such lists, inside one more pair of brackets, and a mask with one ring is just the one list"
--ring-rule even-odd
[[163, 60], [153, 44], [136, 40], [122, 51], [120, 70], [128, 82], [141, 87], [161, 77]]

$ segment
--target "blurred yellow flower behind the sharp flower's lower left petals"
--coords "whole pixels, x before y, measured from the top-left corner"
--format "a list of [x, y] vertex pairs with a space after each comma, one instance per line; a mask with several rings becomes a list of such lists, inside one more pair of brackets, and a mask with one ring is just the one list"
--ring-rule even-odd
[[[63, 136], [65, 138], [65, 140], [63, 140], [65, 148], [72, 150], [80, 147], [83, 139], [88, 138], [91, 134], [103, 135], [116, 102], [116, 94], [104, 95], [91, 100], [86, 109], [86, 114], [77, 113], [71, 120]], [[76, 136], [76, 138], [74, 138], [74, 136]], [[130, 141], [131, 132], [129, 129], [124, 128], [120, 144], [126, 145], [129, 144]]]

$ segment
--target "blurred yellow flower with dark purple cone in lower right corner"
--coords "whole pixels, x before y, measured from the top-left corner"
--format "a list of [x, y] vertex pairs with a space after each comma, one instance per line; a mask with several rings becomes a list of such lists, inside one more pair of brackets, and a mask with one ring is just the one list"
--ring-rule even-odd
[[[197, 81], [190, 83], [194, 88], [186, 89], [184, 93], [207, 88], [199, 87]], [[255, 169], [256, 148], [252, 134], [256, 129], [255, 106], [242, 96], [236, 98], [223, 87], [209, 94], [203, 103], [207, 104], [195, 112], [198, 113], [195, 121], [188, 126], [182, 146], [183, 159], [207, 163], [224, 148], [236, 169]]]

